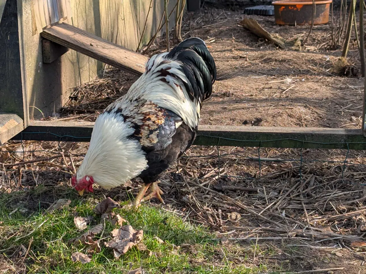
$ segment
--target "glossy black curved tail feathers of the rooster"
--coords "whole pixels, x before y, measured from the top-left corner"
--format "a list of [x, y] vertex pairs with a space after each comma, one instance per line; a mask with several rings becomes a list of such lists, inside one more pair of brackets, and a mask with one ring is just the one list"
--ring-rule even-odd
[[182, 62], [182, 70], [190, 83], [186, 90], [193, 100], [201, 103], [212, 94], [212, 84], [216, 81], [216, 65], [203, 40], [191, 37], [169, 52], [168, 58]]

